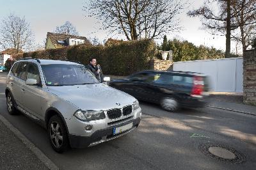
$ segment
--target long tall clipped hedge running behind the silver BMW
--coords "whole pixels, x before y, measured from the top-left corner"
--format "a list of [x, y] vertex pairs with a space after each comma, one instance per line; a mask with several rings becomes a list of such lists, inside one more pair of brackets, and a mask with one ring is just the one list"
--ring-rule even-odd
[[63, 49], [47, 49], [35, 52], [15, 54], [13, 58], [60, 59], [79, 61], [88, 65], [89, 59], [97, 58], [102, 72], [110, 75], [129, 75], [150, 67], [150, 60], [156, 54], [156, 44], [153, 40], [140, 40], [109, 45], [76, 45]]

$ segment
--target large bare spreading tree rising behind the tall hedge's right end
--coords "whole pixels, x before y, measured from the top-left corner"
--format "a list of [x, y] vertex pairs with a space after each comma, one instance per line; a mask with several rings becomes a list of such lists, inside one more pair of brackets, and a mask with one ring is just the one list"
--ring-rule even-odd
[[186, 8], [181, 0], [90, 0], [84, 10], [102, 20], [110, 33], [123, 33], [127, 40], [159, 38], [179, 31], [177, 15]]

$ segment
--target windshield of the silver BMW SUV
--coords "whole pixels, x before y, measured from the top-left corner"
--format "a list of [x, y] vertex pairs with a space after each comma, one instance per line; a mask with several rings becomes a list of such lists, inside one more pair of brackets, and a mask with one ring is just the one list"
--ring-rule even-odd
[[83, 65], [42, 65], [46, 86], [73, 86], [99, 83]]

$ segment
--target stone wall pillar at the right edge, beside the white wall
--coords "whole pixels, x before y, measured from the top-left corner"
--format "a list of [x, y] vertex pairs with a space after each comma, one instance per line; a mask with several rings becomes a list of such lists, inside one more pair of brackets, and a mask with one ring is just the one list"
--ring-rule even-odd
[[243, 58], [243, 102], [256, 105], [256, 50], [246, 50]]

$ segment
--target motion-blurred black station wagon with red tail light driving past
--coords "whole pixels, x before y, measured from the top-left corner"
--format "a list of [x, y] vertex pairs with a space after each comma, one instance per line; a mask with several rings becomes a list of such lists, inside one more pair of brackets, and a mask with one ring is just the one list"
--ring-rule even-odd
[[180, 107], [203, 107], [209, 91], [207, 76], [195, 72], [146, 70], [113, 80], [109, 86], [138, 100], [160, 104], [167, 111]]

